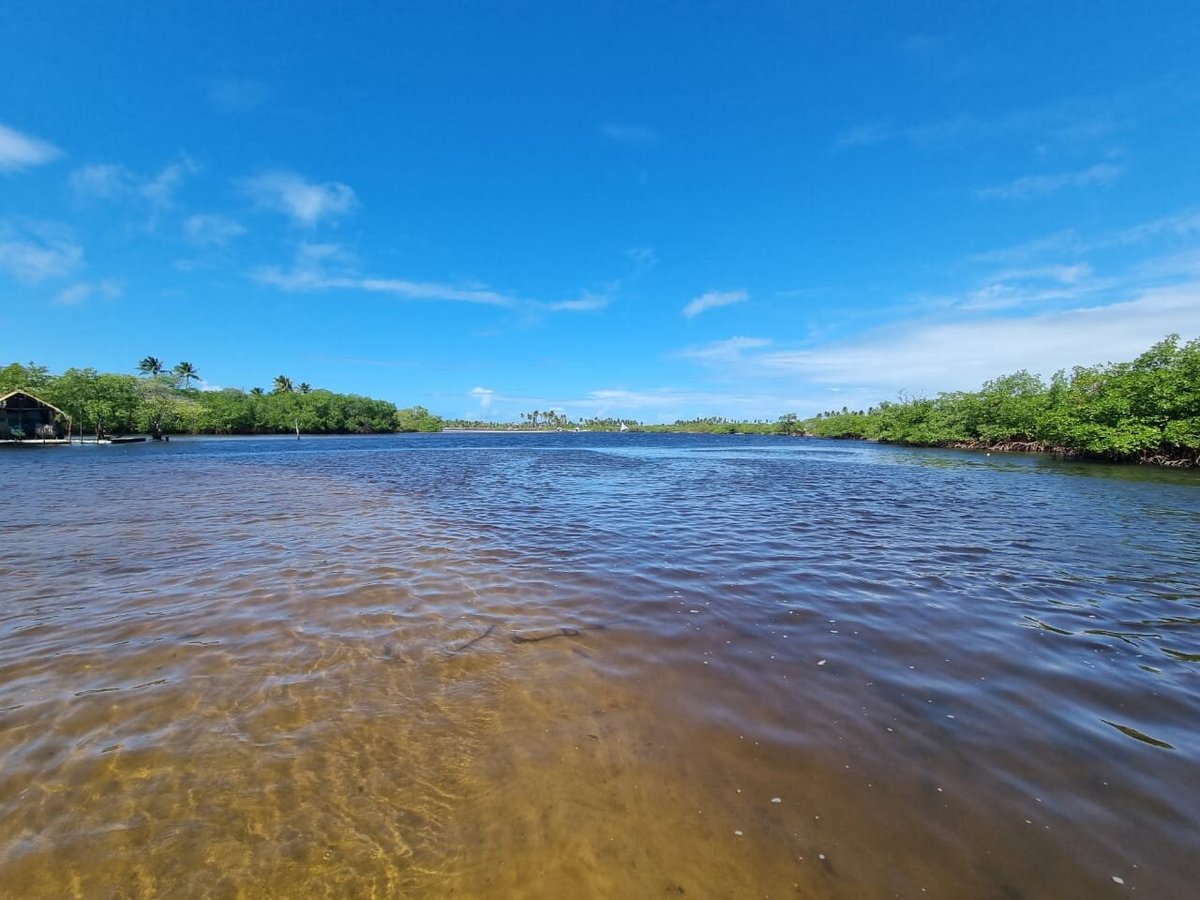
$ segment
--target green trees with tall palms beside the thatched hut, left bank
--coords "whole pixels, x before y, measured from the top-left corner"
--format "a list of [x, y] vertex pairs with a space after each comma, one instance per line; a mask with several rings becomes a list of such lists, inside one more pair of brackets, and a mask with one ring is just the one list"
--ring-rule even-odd
[[44, 366], [13, 362], [0, 367], [0, 395], [25, 390], [53, 403], [71, 416], [76, 434], [95, 433], [101, 424], [114, 434], [347, 434], [442, 428], [442, 420], [422, 407], [397, 409], [383, 400], [310, 389], [307, 384], [298, 391], [284, 376], [275, 379], [276, 390], [270, 394], [235, 388], [203, 391], [187, 386], [199, 377], [188, 362], [167, 374], [160, 360], [148, 356], [138, 368], [142, 377], [94, 368], [68, 368], [54, 376]]

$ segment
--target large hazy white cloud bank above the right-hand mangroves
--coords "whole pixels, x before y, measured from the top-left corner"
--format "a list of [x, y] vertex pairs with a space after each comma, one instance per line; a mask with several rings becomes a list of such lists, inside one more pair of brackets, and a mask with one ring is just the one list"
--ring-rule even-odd
[[[836, 391], [858, 407], [899, 391], [977, 389], [1026, 368], [1128, 360], [1164, 335], [1200, 336], [1200, 211], [1099, 233], [1058, 232], [964, 260], [964, 287], [893, 310], [869, 331], [791, 346], [734, 337], [678, 350], [728, 384]], [[823, 404], [816, 408], [824, 408]], [[815, 409], [814, 409], [815, 412]]]

